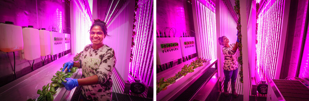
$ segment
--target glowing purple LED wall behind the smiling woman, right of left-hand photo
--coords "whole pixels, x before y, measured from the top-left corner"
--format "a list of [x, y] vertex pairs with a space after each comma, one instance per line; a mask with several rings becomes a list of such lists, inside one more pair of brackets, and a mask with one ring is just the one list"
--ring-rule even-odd
[[152, 86], [150, 82], [153, 79], [153, 1], [142, 0], [138, 5], [134, 29], [135, 46], [132, 48], [133, 59], [129, 64], [129, 74]]

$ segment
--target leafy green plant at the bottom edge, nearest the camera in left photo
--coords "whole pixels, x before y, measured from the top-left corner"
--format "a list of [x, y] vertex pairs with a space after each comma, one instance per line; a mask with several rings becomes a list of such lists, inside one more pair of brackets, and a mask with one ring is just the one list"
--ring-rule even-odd
[[42, 90], [39, 89], [36, 93], [40, 95], [37, 101], [53, 101], [53, 95], [55, 95], [57, 91], [55, 91], [55, 87], [52, 83], [48, 83], [47, 86], [43, 86]]

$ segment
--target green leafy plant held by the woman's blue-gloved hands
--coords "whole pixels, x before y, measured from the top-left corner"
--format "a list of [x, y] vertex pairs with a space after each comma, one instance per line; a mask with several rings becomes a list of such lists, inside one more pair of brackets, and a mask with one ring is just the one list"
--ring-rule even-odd
[[57, 73], [55, 73], [56, 74], [56, 76], [55, 75], [53, 75], [53, 78], [52, 78], [52, 84], [54, 84], [54, 87], [60, 87], [60, 88], [62, 88], [62, 87], [64, 87], [64, 85], [62, 84], [62, 81], [64, 82], [64, 83], [66, 83], [66, 75], [68, 75], [68, 74], [66, 74], [65, 72], [61, 72], [61, 71], [57, 71]]

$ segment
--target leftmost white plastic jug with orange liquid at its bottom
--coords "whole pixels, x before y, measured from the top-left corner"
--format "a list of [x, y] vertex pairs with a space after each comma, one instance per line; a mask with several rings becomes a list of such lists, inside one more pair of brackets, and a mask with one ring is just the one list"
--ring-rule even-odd
[[21, 26], [13, 22], [0, 23], [0, 51], [12, 52], [23, 50], [23, 35]]

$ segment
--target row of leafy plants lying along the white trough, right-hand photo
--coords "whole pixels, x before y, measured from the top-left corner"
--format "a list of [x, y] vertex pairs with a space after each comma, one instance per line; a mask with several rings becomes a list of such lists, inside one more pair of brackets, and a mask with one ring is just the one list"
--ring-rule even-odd
[[181, 68], [181, 71], [178, 71], [175, 76], [172, 76], [168, 79], [164, 79], [165, 77], [161, 78], [159, 81], [157, 81], [157, 94], [160, 91], [164, 91], [167, 89], [167, 86], [170, 84], [173, 84], [176, 82], [176, 79], [181, 78], [182, 76], [186, 76], [188, 73], [194, 72], [194, 69], [197, 67], [203, 66], [203, 63], [207, 62], [206, 59], [196, 59], [195, 61], [191, 62], [190, 64], [184, 65], [184, 67]]

